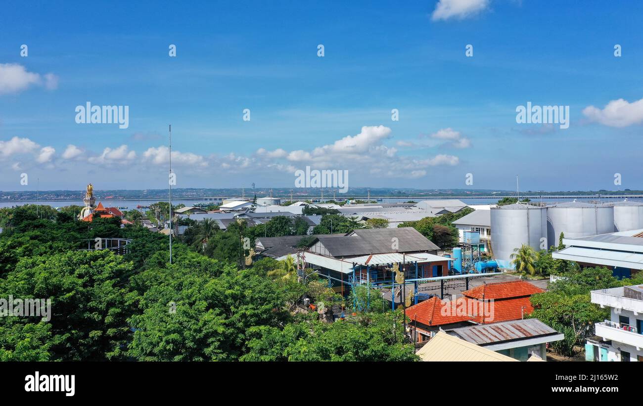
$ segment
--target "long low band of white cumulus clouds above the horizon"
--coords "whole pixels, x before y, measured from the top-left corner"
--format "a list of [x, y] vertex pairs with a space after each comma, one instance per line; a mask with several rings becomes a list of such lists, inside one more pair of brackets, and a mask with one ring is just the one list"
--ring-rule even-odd
[[[459, 132], [445, 128], [437, 132], [440, 143], [466, 144], [468, 140]], [[361, 177], [388, 177], [414, 179], [424, 177], [435, 166], [453, 166], [459, 163], [454, 155], [426, 154], [399, 155], [397, 148], [387, 145], [391, 129], [383, 125], [362, 127], [358, 134], [344, 136], [325, 145], [312, 146], [307, 150], [285, 150], [277, 148], [267, 150], [258, 148], [253, 154], [199, 155], [192, 152], [172, 151], [172, 166], [183, 166], [202, 175], [215, 172], [225, 176], [231, 174], [255, 175], [257, 173], [288, 173], [311, 166], [322, 170], [350, 170]], [[425, 137], [426, 141], [435, 139]], [[0, 141], [0, 158], [3, 155], [16, 155], [14, 152], [33, 155], [34, 163], [50, 163], [72, 168], [78, 162], [87, 162], [93, 166], [118, 166], [123, 170], [138, 172], [158, 172], [167, 169], [170, 157], [169, 148], [165, 145], [150, 147], [140, 154], [130, 150], [127, 145], [118, 148], [107, 147], [102, 153], [92, 153], [76, 145], [67, 145], [62, 152], [62, 159], [55, 160], [55, 149], [51, 146], [41, 147], [29, 139], [14, 137], [9, 141]], [[17, 161], [17, 159], [14, 159]], [[355, 179], [355, 178], [354, 178]]]

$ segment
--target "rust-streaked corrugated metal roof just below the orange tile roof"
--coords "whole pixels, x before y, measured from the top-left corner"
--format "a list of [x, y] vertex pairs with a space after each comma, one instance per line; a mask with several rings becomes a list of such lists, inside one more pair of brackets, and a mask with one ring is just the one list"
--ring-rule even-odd
[[556, 335], [558, 331], [538, 319], [525, 319], [460, 327], [448, 330], [448, 333], [473, 344], [485, 346], [499, 342]]

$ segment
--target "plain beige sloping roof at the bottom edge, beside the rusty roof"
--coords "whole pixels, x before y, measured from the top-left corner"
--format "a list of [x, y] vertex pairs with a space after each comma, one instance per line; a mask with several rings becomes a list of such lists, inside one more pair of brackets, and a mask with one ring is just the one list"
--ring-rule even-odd
[[518, 360], [507, 357], [490, 349], [482, 348], [439, 331], [428, 343], [424, 345], [417, 355], [423, 361], [514, 361]]

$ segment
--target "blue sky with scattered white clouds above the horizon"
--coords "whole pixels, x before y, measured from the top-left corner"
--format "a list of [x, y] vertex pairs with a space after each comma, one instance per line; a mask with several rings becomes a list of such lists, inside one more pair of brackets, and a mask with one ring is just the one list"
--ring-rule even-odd
[[[641, 3], [23, 3], [0, 14], [0, 190], [165, 188], [168, 123], [177, 187], [311, 166], [374, 188], [641, 188]], [[87, 101], [129, 127], [76, 123]], [[527, 101], [569, 106], [569, 128], [516, 123]]]

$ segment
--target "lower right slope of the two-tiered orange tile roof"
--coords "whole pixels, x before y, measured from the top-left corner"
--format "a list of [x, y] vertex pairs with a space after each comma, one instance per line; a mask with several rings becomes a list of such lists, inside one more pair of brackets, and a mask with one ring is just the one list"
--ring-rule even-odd
[[[480, 324], [520, 320], [534, 311], [534, 307], [529, 301], [529, 296], [494, 300], [493, 302], [485, 303], [482, 308], [480, 306], [482, 301], [471, 299], [470, 297], [457, 299], [458, 307], [462, 301], [466, 301], [467, 313], [469, 313], [473, 321]], [[485, 310], [489, 312], [486, 315], [484, 314]]]

